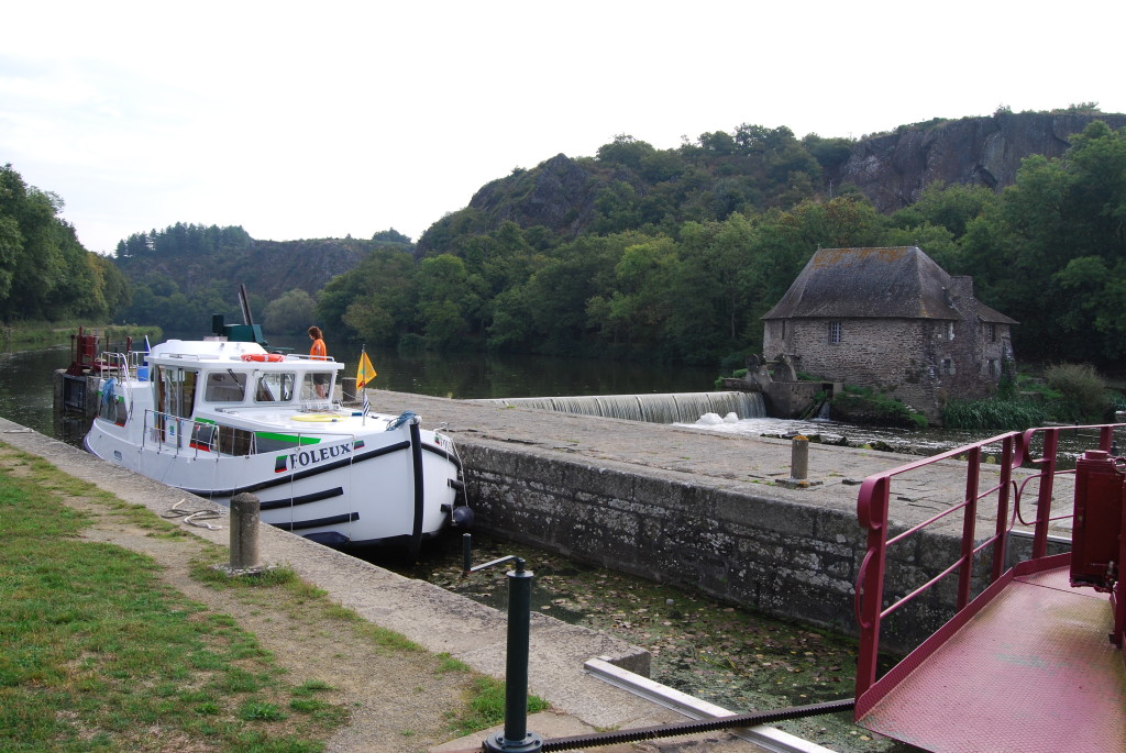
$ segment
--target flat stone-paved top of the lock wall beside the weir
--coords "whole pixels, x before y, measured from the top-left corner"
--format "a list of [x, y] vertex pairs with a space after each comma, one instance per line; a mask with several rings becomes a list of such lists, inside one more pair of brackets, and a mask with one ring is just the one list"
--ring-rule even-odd
[[[804, 488], [788, 488], [779, 485], [792, 475], [793, 443], [785, 439], [730, 436], [705, 428], [553, 413], [383, 389], [368, 389], [368, 398], [373, 411], [391, 414], [414, 411], [427, 428], [446, 424], [457, 443], [520, 445], [537, 452], [557, 452], [572, 459], [579, 456], [634, 472], [638, 467], [659, 468], [685, 474], [686, 483], [742, 488], [749, 494], [834, 509], [854, 517], [864, 478], [923, 459], [811, 442], [808, 479], [813, 483]], [[893, 486], [892, 521], [914, 525], [960, 500], [965, 493], [965, 463], [947, 460], [912, 472], [909, 479], [897, 482]], [[988, 481], [997, 477], [995, 470], [995, 465], [983, 467], [983, 490]], [[1029, 474], [1022, 470], [1017, 475]], [[1071, 512], [1069, 484], [1070, 477], [1057, 479], [1053, 508], [1056, 514]], [[1026, 508], [1029, 503], [1035, 503], [1035, 497], [1026, 500]], [[991, 520], [990, 512], [978, 510], [980, 519]], [[950, 518], [933, 530], [960, 536], [960, 518]], [[1070, 535], [1070, 523], [1055, 523], [1053, 532]]]

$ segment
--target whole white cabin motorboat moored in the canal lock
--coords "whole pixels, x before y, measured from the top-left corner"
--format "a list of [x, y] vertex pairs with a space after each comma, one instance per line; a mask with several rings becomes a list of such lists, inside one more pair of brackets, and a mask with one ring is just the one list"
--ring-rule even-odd
[[421, 543], [468, 526], [461, 461], [414, 413], [364, 414], [331, 398], [332, 358], [226, 338], [105, 353], [86, 448], [170, 486], [229, 503], [258, 496], [263, 522], [337, 547]]

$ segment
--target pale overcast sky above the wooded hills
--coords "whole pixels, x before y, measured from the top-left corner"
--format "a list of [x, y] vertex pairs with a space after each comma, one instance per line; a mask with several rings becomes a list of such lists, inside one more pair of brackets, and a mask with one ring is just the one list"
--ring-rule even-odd
[[622, 134], [1126, 113], [1120, 0], [0, 3], [0, 164], [102, 253], [177, 222], [418, 240]]

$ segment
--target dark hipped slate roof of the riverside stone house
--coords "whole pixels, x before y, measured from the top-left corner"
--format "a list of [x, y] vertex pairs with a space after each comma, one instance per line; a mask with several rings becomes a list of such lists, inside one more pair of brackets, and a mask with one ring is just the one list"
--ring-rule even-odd
[[[960, 320], [950, 304], [950, 275], [918, 246], [819, 249], [762, 319]], [[977, 304], [978, 319], [1016, 324]]]

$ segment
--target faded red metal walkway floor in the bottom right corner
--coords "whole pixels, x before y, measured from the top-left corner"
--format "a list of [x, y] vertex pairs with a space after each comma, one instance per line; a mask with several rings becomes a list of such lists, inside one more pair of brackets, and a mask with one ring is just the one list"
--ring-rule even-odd
[[860, 719], [937, 753], [1126, 751], [1110, 600], [1069, 568], [1018, 575]]

